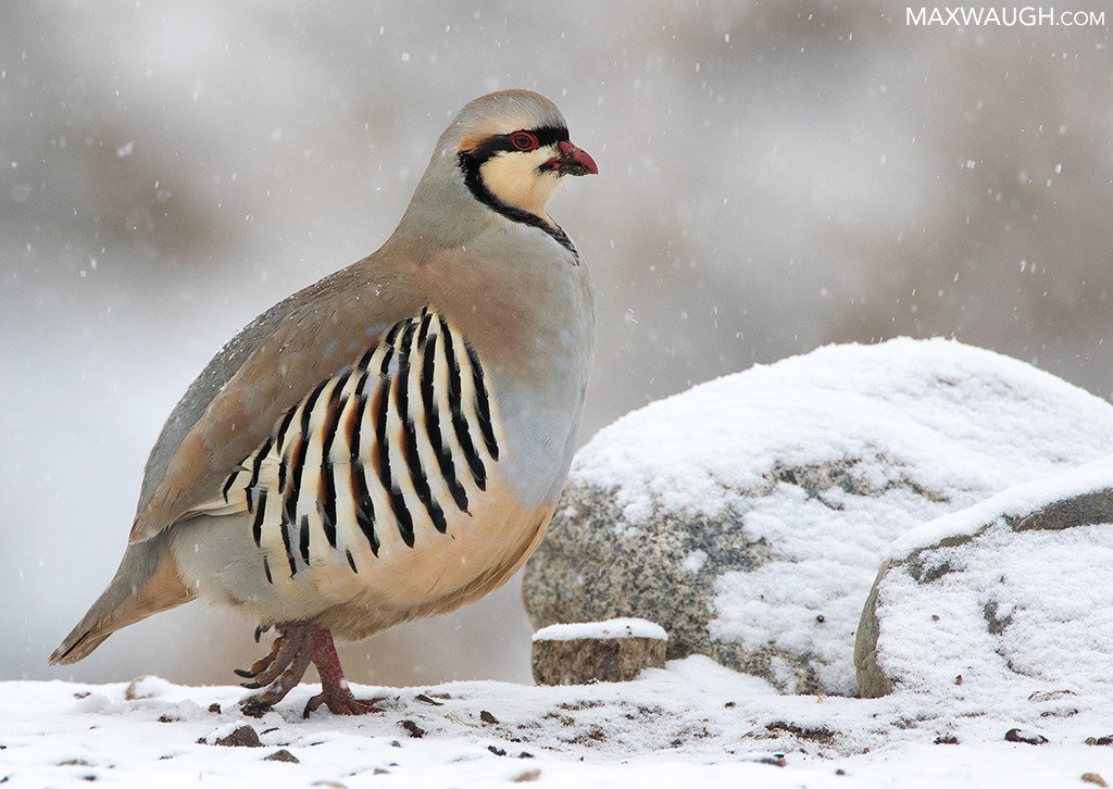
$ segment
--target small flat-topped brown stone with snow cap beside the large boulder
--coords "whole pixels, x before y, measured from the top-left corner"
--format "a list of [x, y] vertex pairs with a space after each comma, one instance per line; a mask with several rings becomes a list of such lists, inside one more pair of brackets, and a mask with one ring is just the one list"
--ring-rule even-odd
[[[643, 669], [664, 668], [668, 637], [642, 635], [641, 629], [608, 628], [611, 622], [643, 622], [656, 630], [657, 625], [643, 620], [610, 620], [592, 625], [599, 634], [587, 638], [564, 638], [559, 628], [583, 625], [552, 625], [534, 635], [532, 650], [533, 679], [538, 684], [585, 684], [597, 682], [627, 682]], [[608, 630], [612, 634], [603, 635]], [[544, 633], [551, 631], [554, 637]], [[630, 633], [634, 634], [630, 634]], [[661, 631], [663, 633], [663, 631]]]

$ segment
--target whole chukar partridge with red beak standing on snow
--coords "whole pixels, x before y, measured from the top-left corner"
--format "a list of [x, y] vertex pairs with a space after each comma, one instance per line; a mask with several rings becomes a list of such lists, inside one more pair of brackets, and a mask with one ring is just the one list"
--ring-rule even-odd
[[383, 247], [257, 317], [186, 391], [116, 576], [50, 662], [203, 598], [278, 633], [239, 672], [263, 689], [245, 710], [269, 709], [312, 662], [322, 692], [305, 714], [374, 711], [332, 634], [481, 598], [552, 515], [594, 315], [545, 206], [563, 176], [597, 171], [538, 93], [464, 107]]

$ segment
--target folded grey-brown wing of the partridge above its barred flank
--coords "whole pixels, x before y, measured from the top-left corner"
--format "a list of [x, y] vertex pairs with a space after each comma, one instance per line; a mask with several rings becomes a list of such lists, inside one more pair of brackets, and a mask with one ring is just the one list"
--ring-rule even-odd
[[[228, 474], [283, 414], [373, 347], [385, 328], [420, 312], [421, 298], [398, 285], [398, 277], [376, 270], [384, 267], [373, 260], [361, 260], [272, 308], [209, 364], [206, 372], [223, 372], [226, 381], [203, 386], [199, 378], [175, 410], [179, 420], [199, 416], [188, 430], [169, 423], [164, 430], [148, 463], [151, 479], [144, 483], [130, 543], [150, 539], [215, 500]], [[237, 352], [238, 366], [225, 358]]]

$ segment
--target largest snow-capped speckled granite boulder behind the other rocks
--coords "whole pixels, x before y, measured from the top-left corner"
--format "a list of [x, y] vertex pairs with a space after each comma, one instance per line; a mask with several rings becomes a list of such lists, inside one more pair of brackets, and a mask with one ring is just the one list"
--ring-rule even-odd
[[669, 658], [855, 694], [895, 539], [1111, 446], [1113, 406], [1023, 362], [945, 339], [824, 347], [600, 431], [523, 599], [535, 628], [643, 617]]

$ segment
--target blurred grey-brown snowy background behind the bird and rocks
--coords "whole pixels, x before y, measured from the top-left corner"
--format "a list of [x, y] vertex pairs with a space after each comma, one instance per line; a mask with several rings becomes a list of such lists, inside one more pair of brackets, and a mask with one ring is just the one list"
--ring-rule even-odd
[[[0, 679], [227, 683], [263, 654], [194, 603], [45, 663], [111, 576], [189, 382], [374, 250], [447, 120], [498, 88], [554, 99], [600, 167], [551, 206], [599, 292], [581, 441], [896, 335], [1110, 397], [1107, 2], [1070, 7], [1104, 27], [965, 29], [868, 1], [522, 7], [0, 3]], [[351, 645], [348, 675], [529, 681], [518, 595]]]

